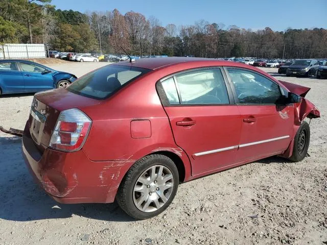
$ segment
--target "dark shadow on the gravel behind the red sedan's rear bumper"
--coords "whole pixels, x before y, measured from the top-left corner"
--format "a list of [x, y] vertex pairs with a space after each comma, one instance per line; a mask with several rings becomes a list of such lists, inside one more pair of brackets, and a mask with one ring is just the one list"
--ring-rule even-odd
[[60, 204], [31, 177], [21, 156], [19, 137], [0, 137], [0, 218], [31, 221], [83, 216], [115, 222], [135, 221], [118, 204]]

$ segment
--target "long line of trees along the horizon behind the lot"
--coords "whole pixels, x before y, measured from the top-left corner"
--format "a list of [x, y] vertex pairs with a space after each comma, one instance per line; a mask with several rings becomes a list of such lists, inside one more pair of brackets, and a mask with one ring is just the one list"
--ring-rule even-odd
[[252, 31], [223, 23], [196, 21], [162, 27], [133, 11], [80, 13], [60, 10], [51, 0], [2, 0], [0, 43], [46, 43], [52, 50], [195, 57], [326, 58], [327, 30], [269, 27]]

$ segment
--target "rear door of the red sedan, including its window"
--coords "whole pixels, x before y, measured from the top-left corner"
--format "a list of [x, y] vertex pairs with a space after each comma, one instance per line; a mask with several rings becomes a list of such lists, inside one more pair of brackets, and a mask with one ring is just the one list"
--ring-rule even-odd
[[157, 86], [175, 142], [190, 157], [193, 176], [236, 162], [241, 116], [220, 68], [181, 72]]

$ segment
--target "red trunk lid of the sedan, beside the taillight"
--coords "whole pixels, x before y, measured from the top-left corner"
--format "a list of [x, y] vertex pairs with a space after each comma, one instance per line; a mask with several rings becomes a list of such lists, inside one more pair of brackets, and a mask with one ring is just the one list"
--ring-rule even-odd
[[39, 151], [43, 152], [48, 148], [61, 111], [99, 103], [98, 100], [69, 92], [66, 89], [36, 93], [29, 116], [29, 130]]

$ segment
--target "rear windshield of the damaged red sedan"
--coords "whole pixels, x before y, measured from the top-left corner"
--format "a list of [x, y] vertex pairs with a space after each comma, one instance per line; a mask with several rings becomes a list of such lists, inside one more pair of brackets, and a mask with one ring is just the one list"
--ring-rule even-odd
[[93, 99], [106, 99], [149, 71], [139, 67], [107, 65], [76, 80], [67, 90]]

